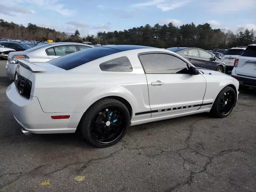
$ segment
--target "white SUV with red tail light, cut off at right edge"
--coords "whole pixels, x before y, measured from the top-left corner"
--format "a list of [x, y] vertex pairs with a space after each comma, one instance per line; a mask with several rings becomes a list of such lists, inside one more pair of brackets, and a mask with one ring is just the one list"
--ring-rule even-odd
[[234, 61], [232, 77], [236, 78], [242, 87], [256, 88], [256, 44], [249, 45]]

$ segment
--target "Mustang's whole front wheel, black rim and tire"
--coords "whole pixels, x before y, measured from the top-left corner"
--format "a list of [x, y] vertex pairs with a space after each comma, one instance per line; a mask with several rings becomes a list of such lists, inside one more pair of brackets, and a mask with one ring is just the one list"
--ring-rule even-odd
[[227, 117], [233, 110], [236, 104], [236, 92], [232, 87], [224, 87], [216, 97], [211, 113], [215, 117]]

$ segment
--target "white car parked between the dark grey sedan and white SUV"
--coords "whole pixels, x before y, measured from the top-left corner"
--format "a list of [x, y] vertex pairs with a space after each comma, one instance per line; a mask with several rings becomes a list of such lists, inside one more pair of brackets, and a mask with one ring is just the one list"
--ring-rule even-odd
[[246, 50], [246, 48], [230, 48], [225, 53], [224, 56], [221, 58], [221, 61], [226, 65], [226, 72], [232, 71], [234, 68], [234, 61], [238, 56], [242, 54], [242, 52]]

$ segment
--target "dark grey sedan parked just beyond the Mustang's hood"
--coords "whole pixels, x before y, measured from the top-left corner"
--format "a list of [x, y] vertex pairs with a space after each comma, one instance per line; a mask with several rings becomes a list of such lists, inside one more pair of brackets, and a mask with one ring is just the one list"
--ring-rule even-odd
[[180, 56], [186, 58], [196, 67], [206, 68], [224, 73], [226, 71], [225, 64], [214, 54], [199, 48], [189, 47], [172, 47], [168, 50], [176, 52]]

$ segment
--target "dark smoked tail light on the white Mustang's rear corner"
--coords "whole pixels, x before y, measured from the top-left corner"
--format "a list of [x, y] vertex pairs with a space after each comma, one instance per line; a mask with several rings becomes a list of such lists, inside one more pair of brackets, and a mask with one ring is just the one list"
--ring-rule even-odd
[[17, 72], [14, 76], [14, 84], [16, 86], [16, 89], [18, 90], [19, 94], [24, 96], [25, 98], [30, 98], [31, 88], [32, 88], [32, 82], [28, 80], [27, 78], [24, 78]]

